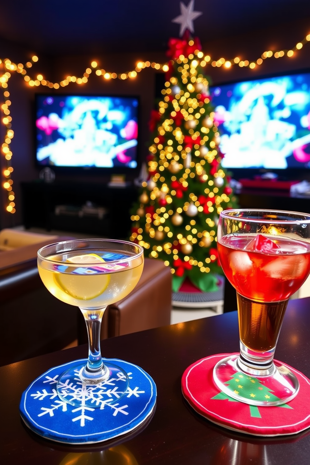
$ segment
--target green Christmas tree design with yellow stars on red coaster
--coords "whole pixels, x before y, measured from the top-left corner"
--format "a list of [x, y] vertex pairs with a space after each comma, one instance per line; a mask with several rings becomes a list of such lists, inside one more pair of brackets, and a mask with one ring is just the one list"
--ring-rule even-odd
[[[257, 378], [248, 376], [242, 372], [235, 373], [231, 379], [228, 379], [225, 382], [225, 385], [229, 387], [231, 392], [235, 392], [237, 395], [243, 397], [244, 399], [255, 399], [257, 401], [264, 402], [274, 402], [276, 400], [279, 400], [279, 398], [275, 396], [268, 387], [260, 383]], [[227, 399], [232, 402], [238, 402], [237, 400], [229, 397], [223, 391], [219, 392], [216, 396], [212, 397], [211, 399]], [[277, 406], [284, 408], [292, 408], [290, 405], [287, 404], [281, 404]], [[249, 405], [249, 407], [251, 417], [261, 418], [261, 414], [256, 405]]]

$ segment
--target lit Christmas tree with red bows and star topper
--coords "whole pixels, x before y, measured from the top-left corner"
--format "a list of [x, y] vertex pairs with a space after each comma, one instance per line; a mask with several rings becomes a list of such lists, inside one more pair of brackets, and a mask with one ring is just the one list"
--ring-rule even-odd
[[144, 247], [145, 256], [171, 267], [174, 292], [185, 279], [211, 292], [223, 274], [216, 242], [219, 213], [235, 206], [235, 198], [221, 167], [204, 53], [198, 38], [190, 36], [191, 20], [199, 13], [192, 6], [192, 1], [188, 9], [183, 5], [183, 15], [174, 20], [184, 34], [169, 41], [165, 88], [150, 120], [148, 179], [132, 209], [130, 239]]

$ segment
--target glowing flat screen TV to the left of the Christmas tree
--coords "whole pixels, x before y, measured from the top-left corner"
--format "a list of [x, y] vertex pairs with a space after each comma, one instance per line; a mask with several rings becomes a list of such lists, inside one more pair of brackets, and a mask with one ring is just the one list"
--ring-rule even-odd
[[35, 160], [53, 170], [129, 173], [139, 164], [139, 98], [35, 95]]

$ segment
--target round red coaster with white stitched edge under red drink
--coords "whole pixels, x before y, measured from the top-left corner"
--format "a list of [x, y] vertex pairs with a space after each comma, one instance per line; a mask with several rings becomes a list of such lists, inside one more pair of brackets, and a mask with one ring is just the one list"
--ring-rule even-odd
[[288, 404], [248, 405], [220, 392], [213, 381], [214, 365], [228, 355], [200, 359], [183, 373], [182, 392], [196, 412], [217, 425], [254, 436], [296, 434], [310, 427], [310, 380], [303, 373], [286, 365], [297, 376], [300, 385], [297, 396]]

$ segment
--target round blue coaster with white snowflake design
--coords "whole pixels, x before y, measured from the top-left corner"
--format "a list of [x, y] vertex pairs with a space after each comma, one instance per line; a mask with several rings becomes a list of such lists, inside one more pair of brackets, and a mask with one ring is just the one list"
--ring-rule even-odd
[[[106, 359], [103, 359], [105, 362]], [[129, 377], [126, 394], [111, 404], [113, 383], [94, 386], [94, 403], [100, 407], [73, 406], [59, 399], [56, 385], [59, 376], [77, 362], [55, 366], [35, 379], [23, 392], [20, 415], [26, 425], [44, 438], [66, 444], [93, 444], [131, 432], [152, 413], [156, 404], [156, 385], [137, 365], [124, 360], [109, 359]], [[78, 387], [77, 387], [78, 389]]]

